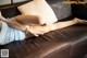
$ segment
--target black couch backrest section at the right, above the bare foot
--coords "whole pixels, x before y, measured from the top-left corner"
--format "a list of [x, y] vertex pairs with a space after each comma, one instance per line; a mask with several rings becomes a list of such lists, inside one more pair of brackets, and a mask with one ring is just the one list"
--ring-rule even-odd
[[72, 4], [72, 13], [75, 18], [87, 20], [87, 4]]

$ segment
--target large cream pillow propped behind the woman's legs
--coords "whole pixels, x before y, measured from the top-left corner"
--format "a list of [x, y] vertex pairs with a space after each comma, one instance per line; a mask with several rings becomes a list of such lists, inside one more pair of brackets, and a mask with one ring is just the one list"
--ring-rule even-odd
[[17, 8], [22, 14], [38, 15], [40, 24], [52, 24], [58, 21], [53, 10], [46, 0], [34, 0]]

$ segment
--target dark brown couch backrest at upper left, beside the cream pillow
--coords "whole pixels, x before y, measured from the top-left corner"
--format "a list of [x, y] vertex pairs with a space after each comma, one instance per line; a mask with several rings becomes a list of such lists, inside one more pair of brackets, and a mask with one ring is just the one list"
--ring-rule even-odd
[[2, 15], [4, 18], [13, 18], [15, 15], [21, 14], [20, 11], [17, 10], [17, 7], [23, 3], [26, 3], [26, 2], [20, 2], [20, 3], [1, 7], [0, 10], [2, 12]]

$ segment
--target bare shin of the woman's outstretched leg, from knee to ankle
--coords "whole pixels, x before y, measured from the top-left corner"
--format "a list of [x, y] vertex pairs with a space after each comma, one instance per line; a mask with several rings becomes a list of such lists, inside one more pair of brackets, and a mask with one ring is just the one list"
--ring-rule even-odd
[[54, 23], [50, 27], [51, 27], [51, 31], [54, 31], [54, 30], [64, 28], [64, 27], [67, 27], [77, 23], [80, 23], [80, 22], [78, 19], [75, 18], [74, 20], [71, 20], [71, 21]]

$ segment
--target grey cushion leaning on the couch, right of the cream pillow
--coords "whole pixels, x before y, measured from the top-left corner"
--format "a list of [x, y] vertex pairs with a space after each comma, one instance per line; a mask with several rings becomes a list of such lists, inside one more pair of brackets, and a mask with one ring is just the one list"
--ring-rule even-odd
[[64, 0], [47, 0], [51, 8], [54, 10], [55, 15], [59, 20], [69, 18], [72, 15], [71, 4], [64, 4]]

